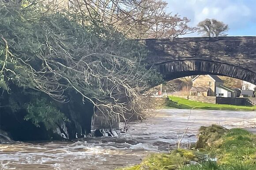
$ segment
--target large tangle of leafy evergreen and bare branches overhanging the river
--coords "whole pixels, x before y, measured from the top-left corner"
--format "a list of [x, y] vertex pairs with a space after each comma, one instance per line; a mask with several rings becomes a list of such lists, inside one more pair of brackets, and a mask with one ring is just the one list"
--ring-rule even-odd
[[74, 138], [90, 133], [94, 113], [140, 117], [141, 94], [162, 76], [143, 64], [148, 51], [135, 39], [196, 32], [166, 7], [162, 0], [0, 0], [1, 128], [26, 134], [26, 120]]

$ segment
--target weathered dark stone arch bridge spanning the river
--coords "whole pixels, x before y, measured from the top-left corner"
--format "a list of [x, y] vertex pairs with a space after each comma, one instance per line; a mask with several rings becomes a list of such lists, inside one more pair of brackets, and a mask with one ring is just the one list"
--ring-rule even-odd
[[256, 36], [145, 39], [153, 65], [166, 80], [212, 74], [256, 84]]

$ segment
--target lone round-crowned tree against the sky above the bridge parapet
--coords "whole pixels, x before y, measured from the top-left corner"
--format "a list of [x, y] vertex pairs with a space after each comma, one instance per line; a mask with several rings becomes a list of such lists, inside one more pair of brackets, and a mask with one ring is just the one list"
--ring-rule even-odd
[[208, 19], [201, 21], [197, 25], [198, 33], [204, 33], [208, 37], [227, 36], [226, 31], [229, 29], [227, 24], [216, 19]]

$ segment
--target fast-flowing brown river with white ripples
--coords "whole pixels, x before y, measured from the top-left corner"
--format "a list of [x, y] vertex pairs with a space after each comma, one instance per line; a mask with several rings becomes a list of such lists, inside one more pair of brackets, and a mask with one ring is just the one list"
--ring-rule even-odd
[[[253, 127], [256, 112], [161, 109], [130, 123], [117, 137], [88, 137], [76, 142], [17, 142], [0, 144], [0, 168], [55, 170], [113, 170], [141, 162], [154, 152], [168, 152], [188, 128], [183, 145], [196, 142], [200, 126]], [[123, 124], [120, 124], [123, 126]]]

